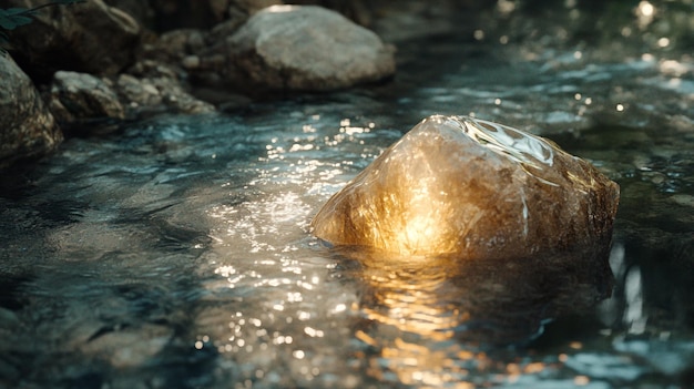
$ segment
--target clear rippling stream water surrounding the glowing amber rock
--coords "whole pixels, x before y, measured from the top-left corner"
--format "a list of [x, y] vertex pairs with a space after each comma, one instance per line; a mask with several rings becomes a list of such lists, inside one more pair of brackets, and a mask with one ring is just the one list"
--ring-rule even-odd
[[[6, 190], [0, 383], [691, 385], [692, 65], [421, 50], [440, 62], [405, 55], [390, 84], [70, 140]], [[584, 309], [573, 290], [575, 311], [549, 324], [565, 290], [543, 296], [532, 269], [379, 267], [308, 234], [330, 194], [432, 113], [545, 134], [621, 184], [612, 298]]]

